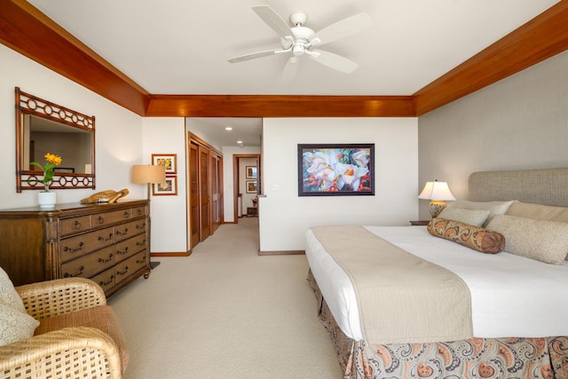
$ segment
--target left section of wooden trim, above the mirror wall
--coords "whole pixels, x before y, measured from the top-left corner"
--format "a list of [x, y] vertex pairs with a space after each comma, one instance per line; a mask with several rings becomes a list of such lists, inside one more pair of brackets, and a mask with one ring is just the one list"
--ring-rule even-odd
[[0, 1], [0, 42], [144, 115], [148, 92], [25, 0]]

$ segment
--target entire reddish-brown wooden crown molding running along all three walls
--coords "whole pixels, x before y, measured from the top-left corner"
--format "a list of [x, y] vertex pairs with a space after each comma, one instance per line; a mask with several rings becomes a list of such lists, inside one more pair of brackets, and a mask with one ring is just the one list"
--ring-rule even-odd
[[412, 96], [152, 95], [25, 0], [0, 21], [0, 42], [141, 116], [414, 117], [568, 49], [561, 0]]

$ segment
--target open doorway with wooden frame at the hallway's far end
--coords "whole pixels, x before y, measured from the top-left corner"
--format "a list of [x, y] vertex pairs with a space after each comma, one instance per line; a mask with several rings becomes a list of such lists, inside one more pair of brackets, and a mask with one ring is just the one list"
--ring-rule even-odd
[[258, 194], [262, 193], [260, 154], [233, 155], [233, 215], [258, 217]]

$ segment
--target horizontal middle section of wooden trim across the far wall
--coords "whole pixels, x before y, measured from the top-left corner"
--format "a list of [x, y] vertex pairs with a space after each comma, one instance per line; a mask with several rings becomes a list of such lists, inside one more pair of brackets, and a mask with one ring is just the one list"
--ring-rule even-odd
[[410, 96], [150, 95], [147, 116], [414, 117]]

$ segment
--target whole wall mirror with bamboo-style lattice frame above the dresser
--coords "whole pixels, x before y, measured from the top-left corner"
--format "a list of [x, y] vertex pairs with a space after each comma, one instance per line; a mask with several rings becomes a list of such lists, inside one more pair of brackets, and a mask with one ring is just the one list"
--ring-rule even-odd
[[16, 87], [16, 191], [43, 189], [47, 153], [62, 157], [52, 189], [95, 188], [95, 117], [80, 114]]

